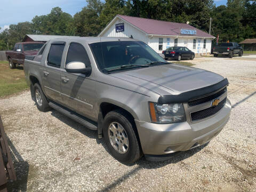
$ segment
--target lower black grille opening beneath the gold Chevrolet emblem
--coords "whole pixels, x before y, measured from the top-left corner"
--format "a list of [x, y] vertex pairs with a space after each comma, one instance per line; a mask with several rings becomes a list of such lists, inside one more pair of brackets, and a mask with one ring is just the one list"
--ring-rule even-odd
[[223, 106], [225, 106], [226, 100], [227, 100], [227, 98], [223, 99], [219, 103], [219, 105], [217, 105], [215, 107], [210, 107], [210, 108], [207, 108], [207, 109], [203, 109], [203, 110], [199, 110], [199, 111], [196, 111], [194, 113], [191, 113], [191, 121], [196, 121], [196, 120], [203, 119], [203, 118], [206, 118], [206, 117], [210, 117], [211, 115], [214, 115]]

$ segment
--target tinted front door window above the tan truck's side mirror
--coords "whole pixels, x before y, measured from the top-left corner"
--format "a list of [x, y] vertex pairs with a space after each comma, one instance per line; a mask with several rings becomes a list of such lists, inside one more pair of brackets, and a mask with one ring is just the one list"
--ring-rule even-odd
[[70, 43], [66, 64], [69, 62], [83, 62], [86, 67], [90, 67], [91, 63], [88, 57], [88, 54], [83, 45], [79, 43]]

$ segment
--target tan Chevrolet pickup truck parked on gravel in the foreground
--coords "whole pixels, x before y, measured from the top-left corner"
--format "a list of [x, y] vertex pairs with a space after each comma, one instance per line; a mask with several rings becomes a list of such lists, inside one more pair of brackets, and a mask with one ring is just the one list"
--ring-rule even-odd
[[131, 38], [52, 39], [25, 59], [24, 72], [39, 110], [97, 130], [122, 163], [204, 145], [231, 111], [227, 78], [169, 63]]

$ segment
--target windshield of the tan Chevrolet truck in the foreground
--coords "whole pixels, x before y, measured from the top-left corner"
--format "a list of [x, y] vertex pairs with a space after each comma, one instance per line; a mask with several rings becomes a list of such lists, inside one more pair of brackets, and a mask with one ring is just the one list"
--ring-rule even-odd
[[[166, 61], [151, 47], [138, 41], [114, 41], [90, 44], [98, 67], [103, 71], [124, 66], [147, 65], [153, 61]], [[122, 67], [122, 68], [121, 68]], [[105, 70], [104, 70], [105, 69]]]

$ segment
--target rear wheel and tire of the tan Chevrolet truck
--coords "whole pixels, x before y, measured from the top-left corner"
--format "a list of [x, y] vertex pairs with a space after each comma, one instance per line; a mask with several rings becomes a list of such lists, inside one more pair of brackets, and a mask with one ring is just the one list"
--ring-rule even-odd
[[50, 106], [48, 105], [48, 101], [41, 89], [41, 86], [37, 83], [34, 85], [34, 95], [37, 109], [43, 112], [49, 111]]

